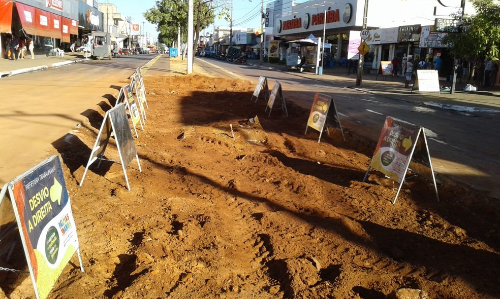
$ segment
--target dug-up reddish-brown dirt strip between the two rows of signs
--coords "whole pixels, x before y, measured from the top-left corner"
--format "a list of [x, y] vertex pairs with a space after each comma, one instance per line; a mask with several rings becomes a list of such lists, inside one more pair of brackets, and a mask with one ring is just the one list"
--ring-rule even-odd
[[[254, 83], [175, 72], [145, 76], [142, 166], [92, 166], [105, 110], [52, 142], [60, 155], [85, 273], [73, 257], [49, 298], [495, 298], [498, 202], [421, 178], [374, 173], [373, 142], [338, 130], [303, 135], [308, 111], [264, 113]], [[233, 132], [231, 131], [232, 125]], [[233, 135], [234, 134], [234, 135]], [[118, 161], [111, 144], [106, 158]], [[7, 210], [3, 211], [8, 214]], [[25, 269], [22, 250], [4, 267]], [[0, 273], [9, 298], [33, 298], [28, 274]]]

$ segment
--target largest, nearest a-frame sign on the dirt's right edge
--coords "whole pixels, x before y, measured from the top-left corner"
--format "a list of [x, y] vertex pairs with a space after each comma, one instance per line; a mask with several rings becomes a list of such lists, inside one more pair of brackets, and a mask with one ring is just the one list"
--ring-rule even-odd
[[423, 127], [387, 117], [363, 181], [368, 177], [371, 168], [399, 183], [393, 204], [396, 203], [408, 171], [431, 180], [436, 199], [439, 201], [438, 185]]

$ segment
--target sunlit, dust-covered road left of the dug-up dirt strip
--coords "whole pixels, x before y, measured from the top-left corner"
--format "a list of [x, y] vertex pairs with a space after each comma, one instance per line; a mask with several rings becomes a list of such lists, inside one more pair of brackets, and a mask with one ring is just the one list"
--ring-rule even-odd
[[90, 60], [0, 80], [0, 185], [48, 158], [51, 142], [109, 106], [107, 99], [152, 58]]

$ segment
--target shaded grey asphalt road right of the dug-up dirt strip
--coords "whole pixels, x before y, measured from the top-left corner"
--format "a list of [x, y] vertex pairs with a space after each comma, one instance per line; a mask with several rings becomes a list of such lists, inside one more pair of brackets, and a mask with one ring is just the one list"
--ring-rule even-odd
[[[351, 88], [328, 85], [295, 73], [238, 65], [225, 61], [198, 58], [208, 73], [223, 68], [230, 71], [217, 74], [246, 78], [257, 82], [267, 77], [272, 87], [275, 81], [283, 86], [287, 101], [310, 109], [316, 92], [331, 95], [343, 127], [372, 140], [378, 140], [386, 116], [424, 127], [434, 171], [447, 183], [463, 182], [500, 198], [500, 119], [491, 113], [463, 113], [428, 107], [414, 102], [389, 99]], [[214, 67], [217, 66], [217, 67]], [[231, 75], [234, 74], [234, 75]]]

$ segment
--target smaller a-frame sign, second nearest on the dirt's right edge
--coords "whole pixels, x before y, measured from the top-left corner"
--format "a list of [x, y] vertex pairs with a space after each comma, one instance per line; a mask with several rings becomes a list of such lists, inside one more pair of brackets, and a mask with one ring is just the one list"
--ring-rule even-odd
[[325, 130], [326, 133], [330, 135], [330, 132], [328, 131], [328, 128], [325, 128], [325, 125], [327, 127], [339, 128], [342, 133], [342, 138], [346, 141], [333, 97], [316, 93], [314, 96], [313, 106], [311, 106], [311, 111], [307, 120], [307, 126], [305, 126], [304, 135], [307, 134], [307, 129], [311, 127], [320, 132], [320, 137], [318, 138], [318, 143], [320, 143], [321, 135]]

